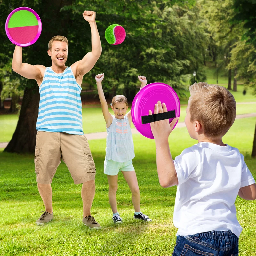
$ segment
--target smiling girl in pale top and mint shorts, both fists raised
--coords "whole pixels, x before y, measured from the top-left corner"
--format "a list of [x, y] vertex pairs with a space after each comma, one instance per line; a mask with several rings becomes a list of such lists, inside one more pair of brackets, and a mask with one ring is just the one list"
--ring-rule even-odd
[[[113, 212], [113, 221], [115, 224], [123, 223], [117, 211], [116, 191], [118, 172], [121, 171], [124, 179], [129, 185], [132, 192], [132, 204], [134, 206], [134, 219], [143, 221], [152, 221], [147, 215], [140, 212], [140, 190], [132, 159], [134, 155], [134, 147], [131, 132], [132, 116], [131, 111], [126, 114], [128, 109], [127, 99], [123, 95], [116, 95], [112, 99], [111, 108], [114, 115], [108, 111], [108, 104], [104, 96], [101, 81], [104, 78], [104, 73], [95, 77], [97, 89], [99, 93], [101, 108], [107, 127], [107, 148], [104, 161], [104, 173], [108, 177], [108, 198]], [[147, 80], [145, 76], [138, 76], [141, 82], [141, 88], [146, 86]]]

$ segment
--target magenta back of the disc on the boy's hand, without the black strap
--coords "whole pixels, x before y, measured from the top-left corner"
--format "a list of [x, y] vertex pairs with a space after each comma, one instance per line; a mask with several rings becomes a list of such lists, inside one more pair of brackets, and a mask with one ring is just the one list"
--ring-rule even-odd
[[[147, 99], [150, 99], [151, 101]], [[160, 100], [161, 103], [164, 102], [166, 104], [168, 111], [175, 110], [176, 117], [180, 117], [180, 100], [171, 86], [156, 82], [143, 87], [132, 101], [132, 123], [141, 135], [149, 139], [154, 139], [150, 123], [142, 124], [141, 116], [148, 115], [149, 110], [154, 114], [155, 104], [158, 100]], [[173, 119], [174, 118], [170, 118], [169, 123], [171, 123]], [[178, 121], [174, 127], [177, 123]]]

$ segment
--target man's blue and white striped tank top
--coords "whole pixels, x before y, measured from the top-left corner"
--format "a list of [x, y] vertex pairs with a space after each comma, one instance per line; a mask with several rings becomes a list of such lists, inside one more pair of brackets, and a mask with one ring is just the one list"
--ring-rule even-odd
[[46, 68], [39, 87], [36, 130], [83, 135], [81, 90], [70, 67], [60, 74]]

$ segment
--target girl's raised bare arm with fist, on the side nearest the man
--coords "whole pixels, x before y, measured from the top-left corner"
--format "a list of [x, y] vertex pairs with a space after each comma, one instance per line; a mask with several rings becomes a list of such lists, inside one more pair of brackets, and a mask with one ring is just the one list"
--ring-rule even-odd
[[[111, 116], [111, 114], [108, 111], [108, 103], [106, 101], [103, 89], [102, 89], [102, 84], [101, 81], [104, 78], [104, 73], [99, 74], [95, 77], [96, 79], [96, 84], [97, 84], [97, 90], [98, 90], [98, 94], [99, 94], [99, 98], [100, 98], [100, 103], [101, 103], [101, 108], [102, 108], [102, 113], [106, 122], [106, 126], [107, 128], [112, 124], [113, 118]], [[101, 80], [101, 81], [99, 81]]]

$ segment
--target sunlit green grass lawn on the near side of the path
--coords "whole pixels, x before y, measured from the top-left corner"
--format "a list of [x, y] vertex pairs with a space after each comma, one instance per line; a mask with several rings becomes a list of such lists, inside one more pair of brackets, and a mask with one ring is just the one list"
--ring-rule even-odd
[[[223, 142], [239, 148], [256, 178], [256, 159], [250, 157], [255, 121], [255, 117], [236, 120]], [[153, 221], [141, 223], [133, 219], [131, 192], [121, 174], [117, 202], [124, 223], [113, 224], [108, 182], [103, 174], [106, 140], [91, 140], [97, 169], [92, 215], [102, 225], [100, 231], [91, 231], [82, 224], [81, 184], [74, 185], [64, 163], [52, 182], [54, 220], [36, 226], [44, 205], [37, 190], [34, 156], [0, 152], [0, 255], [171, 255], [177, 231], [172, 222], [176, 187], [159, 185], [154, 140], [140, 134], [135, 134], [133, 140], [141, 210]], [[196, 140], [189, 137], [186, 128], [177, 128], [169, 142], [175, 157]], [[252, 241], [256, 241], [256, 202], [237, 197], [235, 204], [243, 227], [239, 255], [255, 256], [256, 244]]]

